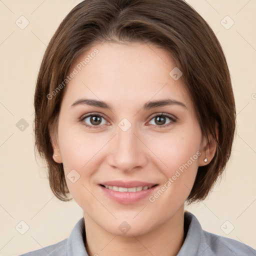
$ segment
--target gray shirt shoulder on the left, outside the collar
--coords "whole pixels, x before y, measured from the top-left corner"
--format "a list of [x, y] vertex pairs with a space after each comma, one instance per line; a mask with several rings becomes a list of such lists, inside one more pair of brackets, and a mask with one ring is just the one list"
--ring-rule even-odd
[[50, 244], [46, 247], [41, 249], [33, 250], [21, 254], [19, 256], [65, 256], [66, 255], [66, 248], [67, 248], [67, 238], [63, 239], [57, 243]]

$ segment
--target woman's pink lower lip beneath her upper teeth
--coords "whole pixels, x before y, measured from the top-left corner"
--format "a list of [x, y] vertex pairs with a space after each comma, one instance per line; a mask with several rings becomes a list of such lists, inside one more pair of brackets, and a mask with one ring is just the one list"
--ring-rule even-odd
[[123, 204], [129, 204], [137, 202], [145, 197], [148, 197], [153, 190], [158, 186], [153, 186], [146, 190], [141, 190], [137, 192], [119, 192], [114, 191], [112, 189], [105, 188], [104, 186], [99, 185], [102, 191], [111, 199], [123, 203]]

